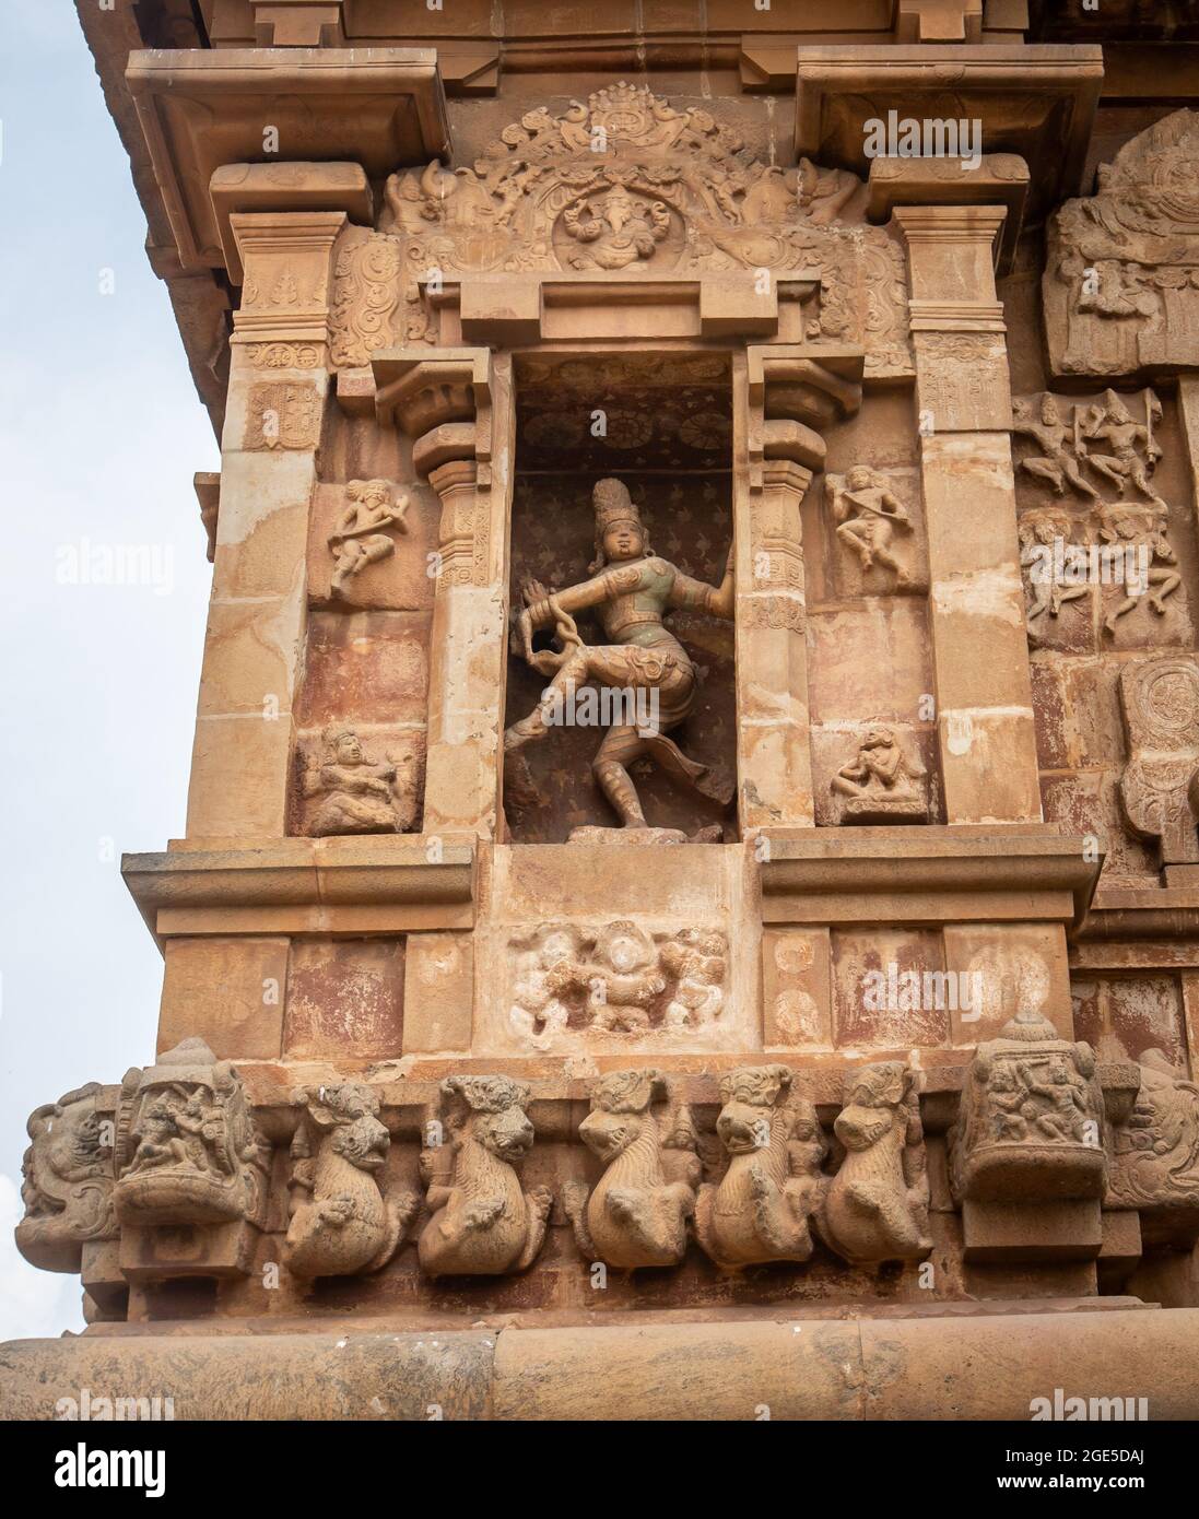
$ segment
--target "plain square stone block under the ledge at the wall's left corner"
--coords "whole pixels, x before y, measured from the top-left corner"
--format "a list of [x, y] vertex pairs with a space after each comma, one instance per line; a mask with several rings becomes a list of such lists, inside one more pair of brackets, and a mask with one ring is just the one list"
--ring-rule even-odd
[[274, 1060], [283, 1048], [287, 939], [169, 939], [158, 1050], [198, 1036], [222, 1060]]

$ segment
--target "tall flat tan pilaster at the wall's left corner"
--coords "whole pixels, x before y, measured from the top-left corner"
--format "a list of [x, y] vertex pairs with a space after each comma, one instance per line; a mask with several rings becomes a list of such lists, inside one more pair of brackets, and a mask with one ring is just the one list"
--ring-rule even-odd
[[[286, 202], [287, 187], [278, 194]], [[229, 216], [245, 284], [231, 342], [188, 837], [286, 832], [333, 245], [345, 220], [340, 210]]]

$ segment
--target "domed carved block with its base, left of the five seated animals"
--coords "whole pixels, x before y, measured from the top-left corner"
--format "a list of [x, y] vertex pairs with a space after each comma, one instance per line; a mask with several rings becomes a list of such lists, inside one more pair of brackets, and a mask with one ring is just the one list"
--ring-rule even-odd
[[112, 1200], [129, 1281], [239, 1276], [267, 1203], [270, 1150], [242, 1080], [184, 1039], [122, 1083]]

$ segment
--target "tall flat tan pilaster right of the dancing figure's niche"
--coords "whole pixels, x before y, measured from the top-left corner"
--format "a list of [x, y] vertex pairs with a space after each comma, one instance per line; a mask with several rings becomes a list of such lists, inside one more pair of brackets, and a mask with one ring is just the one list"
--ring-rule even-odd
[[929, 621], [950, 823], [1041, 819], [1015, 530], [1004, 208], [897, 207], [907, 242]]

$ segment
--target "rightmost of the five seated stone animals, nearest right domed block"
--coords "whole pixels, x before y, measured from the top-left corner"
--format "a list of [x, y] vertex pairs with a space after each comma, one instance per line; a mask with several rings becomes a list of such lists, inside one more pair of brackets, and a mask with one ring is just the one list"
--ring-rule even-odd
[[851, 1072], [833, 1132], [845, 1159], [819, 1215], [824, 1241], [849, 1265], [919, 1261], [933, 1241], [916, 1072], [898, 1060]]

